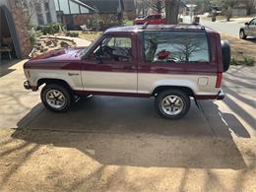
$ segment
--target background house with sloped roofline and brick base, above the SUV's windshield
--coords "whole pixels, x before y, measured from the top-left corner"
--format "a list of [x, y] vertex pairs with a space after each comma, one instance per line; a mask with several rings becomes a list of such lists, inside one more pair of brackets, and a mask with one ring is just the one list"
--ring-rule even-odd
[[116, 19], [119, 15], [135, 18], [134, 0], [54, 0], [58, 22], [81, 26], [94, 20]]

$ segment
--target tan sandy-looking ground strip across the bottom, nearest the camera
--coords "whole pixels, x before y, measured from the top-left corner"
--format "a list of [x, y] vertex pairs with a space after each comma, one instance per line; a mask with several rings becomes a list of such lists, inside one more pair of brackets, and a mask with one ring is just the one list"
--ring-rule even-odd
[[255, 141], [1, 130], [2, 191], [253, 191]]

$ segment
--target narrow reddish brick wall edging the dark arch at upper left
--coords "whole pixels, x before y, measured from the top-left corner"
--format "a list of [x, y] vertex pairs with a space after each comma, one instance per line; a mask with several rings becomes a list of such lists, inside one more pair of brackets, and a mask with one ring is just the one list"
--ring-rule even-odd
[[22, 57], [27, 58], [32, 51], [32, 43], [26, 27], [24, 13], [16, 7], [14, 0], [9, 0], [9, 7], [14, 19], [18, 39], [20, 41]]

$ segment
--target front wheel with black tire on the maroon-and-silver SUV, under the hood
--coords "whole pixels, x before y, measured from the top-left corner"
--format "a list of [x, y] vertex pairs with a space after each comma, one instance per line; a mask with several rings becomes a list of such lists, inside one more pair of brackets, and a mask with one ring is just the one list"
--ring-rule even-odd
[[40, 96], [44, 106], [54, 112], [66, 111], [72, 101], [70, 92], [58, 84], [47, 84], [41, 90]]

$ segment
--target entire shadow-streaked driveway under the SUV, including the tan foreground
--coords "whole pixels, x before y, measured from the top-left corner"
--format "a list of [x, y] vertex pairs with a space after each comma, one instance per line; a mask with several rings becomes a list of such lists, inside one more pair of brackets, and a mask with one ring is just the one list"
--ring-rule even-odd
[[19, 128], [0, 129], [0, 190], [255, 189], [255, 67], [225, 74], [224, 101], [168, 121], [150, 98], [93, 96], [49, 112], [23, 89], [22, 65], [0, 78], [0, 128]]

